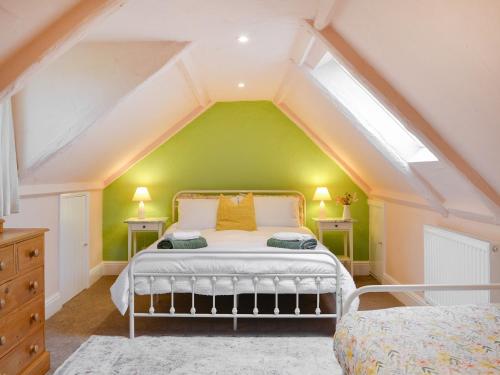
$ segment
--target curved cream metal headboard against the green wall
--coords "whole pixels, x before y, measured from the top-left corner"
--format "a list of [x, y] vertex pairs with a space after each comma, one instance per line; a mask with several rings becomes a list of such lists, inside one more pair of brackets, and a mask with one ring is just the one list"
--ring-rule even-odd
[[254, 196], [292, 196], [299, 199], [299, 219], [300, 224], [305, 225], [306, 221], [306, 198], [300, 191], [295, 190], [181, 190], [174, 194], [172, 198], [172, 222], [177, 222], [179, 199], [181, 198], [213, 198], [219, 195], [240, 195], [252, 193]]

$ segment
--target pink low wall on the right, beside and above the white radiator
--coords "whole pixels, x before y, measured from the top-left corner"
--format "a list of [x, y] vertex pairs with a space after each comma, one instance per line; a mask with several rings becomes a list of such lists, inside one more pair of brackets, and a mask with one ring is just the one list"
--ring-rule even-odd
[[[500, 245], [500, 226], [445, 218], [433, 211], [386, 202], [386, 274], [402, 284], [424, 281], [423, 225], [470, 234]], [[497, 273], [499, 273], [498, 270]]]

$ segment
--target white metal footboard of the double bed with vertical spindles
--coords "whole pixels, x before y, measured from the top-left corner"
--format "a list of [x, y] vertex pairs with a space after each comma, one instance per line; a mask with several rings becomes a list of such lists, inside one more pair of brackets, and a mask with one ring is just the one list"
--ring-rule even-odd
[[[153, 255], [158, 258], [158, 261], [162, 258], [168, 259], [175, 255], [241, 255], [241, 254], [251, 254], [251, 255], [288, 255], [288, 254], [311, 254], [311, 255], [325, 255], [328, 256], [334, 265], [335, 272], [332, 273], [322, 273], [322, 274], [296, 274], [296, 273], [179, 273], [179, 272], [136, 272], [136, 263], [143, 258]], [[319, 252], [318, 250], [287, 250], [280, 249], [278, 254], [263, 253], [262, 250], [227, 250], [227, 249], [197, 249], [196, 253], [193, 250], [144, 250], [138, 253], [134, 258], [130, 260], [129, 270], [129, 333], [130, 338], [135, 337], [135, 318], [136, 317], [148, 317], [148, 318], [233, 318], [233, 329], [237, 329], [237, 319], [238, 318], [335, 318], [336, 322], [339, 321], [342, 316], [342, 285], [341, 285], [341, 264], [340, 261], [331, 253]], [[136, 312], [135, 311], [135, 278], [146, 278], [150, 285], [150, 306], [148, 312]], [[170, 282], [170, 292], [161, 294], [170, 294], [170, 309], [168, 312], [157, 312], [155, 308], [155, 296], [158, 293], [154, 293], [153, 283], [160, 279], [167, 279]], [[210, 280], [212, 287], [212, 308], [210, 313], [197, 313], [195, 306], [195, 295], [196, 295], [196, 283], [201, 278]], [[230, 281], [232, 284], [232, 295], [233, 296], [233, 307], [231, 313], [219, 313], [215, 304], [215, 297], [217, 294], [217, 281], [225, 279]], [[310, 295], [311, 293], [301, 293], [299, 291], [299, 284], [304, 279], [313, 279], [316, 285], [316, 308], [314, 314], [302, 313], [299, 307], [300, 295]], [[321, 282], [324, 279], [335, 279], [335, 292], [333, 296], [335, 298], [335, 313], [324, 313], [320, 309], [320, 295], [321, 293]], [[175, 308], [175, 283], [178, 281], [190, 281], [191, 289], [191, 309], [188, 313], [179, 313]], [[238, 284], [242, 280], [249, 280], [253, 285], [253, 295], [254, 295], [254, 307], [252, 313], [241, 313], [238, 310], [238, 296], [239, 294], [248, 294], [248, 292], [241, 292], [238, 290]], [[263, 280], [272, 280], [274, 284], [274, 296], [275, 296], [275, 307], [272, 314], [263, 314], [259, 312], [258, 307], [258, 295], [259, 294], [272, 294], [269, 292], [259, 292], [259, 283]], [[279, 295], [283, 294], [279, 292], [279, 285], [281, 281], [291, 280], [295, 283], [295, 310], [293, 314], [284, 314], [280, 312], [278, 301]], [[184, 292], [182, 292], [184, 293]], [[147, 295], [147, 294], [146, 294]], [[227, 295], [227, 294], [225, 294]]]

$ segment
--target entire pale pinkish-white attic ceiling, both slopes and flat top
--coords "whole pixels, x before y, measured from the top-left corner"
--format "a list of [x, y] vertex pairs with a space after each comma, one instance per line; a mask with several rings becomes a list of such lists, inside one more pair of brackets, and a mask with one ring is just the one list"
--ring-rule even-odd
[[[79, 4], [0, 0], [0, 83], [2, 63]], [[96, 22], [75, 21], [73, 29], [68, 24], [67, 39], [74, 45], [54, 45], [66, 43], [62, 55], [34, 61], [37, 71], [15, 91], [23, 185], [109, 183], [211, 103], [273, 100], [371, 196], [427, 206], [428, 192], [445, 214], [500, 220], [498, 1], [91, 0], [86, 5]], [[309, 69], [331, 46], [311, 39], [307, 19], [335, 29], [494, 193], [488, 198], [484, 185], [448, 160], [411, 168], [424, 194], [394, 168], [311, 78]], [[248, 43], [238, 43], [240, 35], [248, 36]], [[58, 72], [65, 73], [59, 81]], [[240, 82], [244, 88], [238, 88]]]

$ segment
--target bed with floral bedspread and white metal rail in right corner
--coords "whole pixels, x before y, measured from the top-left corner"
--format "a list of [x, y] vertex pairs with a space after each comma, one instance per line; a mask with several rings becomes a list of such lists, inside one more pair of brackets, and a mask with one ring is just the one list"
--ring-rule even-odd
[[[498, 289], [491, 285], [376, 286], [367, 292]], [[499, 374], [500, 305], [413, 306], [345, 314], [334, 350], [345, 374]]]

